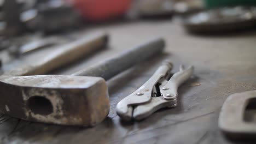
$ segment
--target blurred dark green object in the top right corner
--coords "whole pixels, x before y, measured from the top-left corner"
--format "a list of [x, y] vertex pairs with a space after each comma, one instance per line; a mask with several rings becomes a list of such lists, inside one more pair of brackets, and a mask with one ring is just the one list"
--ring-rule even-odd
[[219, 8], [236, 5], [256, 5], [255, 0], [203, 0], [206, 8]]

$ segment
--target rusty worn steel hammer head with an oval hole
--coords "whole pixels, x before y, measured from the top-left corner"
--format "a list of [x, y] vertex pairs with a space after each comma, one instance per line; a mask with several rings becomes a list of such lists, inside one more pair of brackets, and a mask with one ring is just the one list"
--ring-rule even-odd
[[101, 77], [2, 76], [0, 95], [0, 112], [27, 121], [94, 126], [109, 112]]

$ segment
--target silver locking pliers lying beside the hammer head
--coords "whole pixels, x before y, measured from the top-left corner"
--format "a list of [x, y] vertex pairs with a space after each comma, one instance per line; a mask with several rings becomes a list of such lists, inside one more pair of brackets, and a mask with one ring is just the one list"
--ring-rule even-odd
[[154, 75], [137, 91], [133, 92], [117, 104], [117, 114], [125, 121], [141, 120], [163, 107], [177, 106], [177, 89], [193, 74], [193, 66], [173, 74], [172, 63], [165, 62]]

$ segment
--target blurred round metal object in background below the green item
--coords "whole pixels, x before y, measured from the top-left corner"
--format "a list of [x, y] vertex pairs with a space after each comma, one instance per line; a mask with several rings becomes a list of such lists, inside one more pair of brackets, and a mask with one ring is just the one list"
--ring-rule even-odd
[[218, 33], [256, 26], [256, 7], [229, 7], [202, 10], [188, 15], [184, 27], [190, 32]]

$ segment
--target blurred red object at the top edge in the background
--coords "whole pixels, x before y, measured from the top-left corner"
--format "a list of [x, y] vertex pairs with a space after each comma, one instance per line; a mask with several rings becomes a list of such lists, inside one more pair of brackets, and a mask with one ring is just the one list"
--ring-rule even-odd
[[103, 21], [122, 16], [131, 4], [131, 0], [73, 0], [73, 2], [89, 21]]

